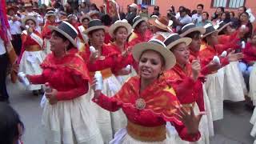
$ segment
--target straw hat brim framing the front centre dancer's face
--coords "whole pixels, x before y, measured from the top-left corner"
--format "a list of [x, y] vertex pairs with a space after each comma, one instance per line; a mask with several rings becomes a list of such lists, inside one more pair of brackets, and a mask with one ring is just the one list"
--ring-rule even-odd
[[162, 55], [166, 62], [165, 70], [170, 70], [172, 67], [175, 66], [176, 58], [174, 54], [163, 46], [152, 42], [142, 42], [134, 46], [132, 54], [135, 61], [138, 62], [139, 58], [141, 58], [142, 53], [146, 50], [154, 50]]

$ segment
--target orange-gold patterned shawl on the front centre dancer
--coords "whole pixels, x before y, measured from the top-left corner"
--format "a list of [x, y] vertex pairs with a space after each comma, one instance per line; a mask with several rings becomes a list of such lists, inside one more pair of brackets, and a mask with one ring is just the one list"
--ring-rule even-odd
[[136, 108], [135, 102], [138, 98], [143, 98], [146, 107], [143, 110], [161, 116], [166, 122], [176, 122], [182, 124], [174, 113], [178, 113], [177, 107], [180, 106], [174, 89], [166, 84], [166, 81], [158, 79], [148, 86], [141, 93], [140, 78], [138, 76], [130, 78], [122, 86], [122, 90], [115, 95], [115, 99], [122, 103], [123, 107], [132, 106]]

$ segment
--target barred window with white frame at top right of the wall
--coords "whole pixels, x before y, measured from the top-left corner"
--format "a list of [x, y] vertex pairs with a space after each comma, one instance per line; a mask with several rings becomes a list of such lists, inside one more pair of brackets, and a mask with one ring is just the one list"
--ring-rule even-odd
[[212, 0], [213, 7], [238, 8], [245, 5], [245, 0]]

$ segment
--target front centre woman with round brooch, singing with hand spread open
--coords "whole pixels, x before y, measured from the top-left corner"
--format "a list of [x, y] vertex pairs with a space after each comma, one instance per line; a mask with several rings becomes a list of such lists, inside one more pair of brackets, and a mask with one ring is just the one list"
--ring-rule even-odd
[[128, 119], [126, 128], [119, 130], [110, 143], [173, 143], [166, 137], [166, 122], [174, 124], [182, 139], [197, 141], [202, 114], [195, 116], [191, 107], [190, 114], [185, 108], [180, 109], [174, 89], [159, 78], [164, 70], [174, 66], [174, 54], [158, 40], [142, 42], [134, 46], [132, 53], [139, 63], [139, 76], [130, 78], [111, 98], [101, 90], [94, 94], [94, 102], [99, 106], [110, 111], [122, 108]]

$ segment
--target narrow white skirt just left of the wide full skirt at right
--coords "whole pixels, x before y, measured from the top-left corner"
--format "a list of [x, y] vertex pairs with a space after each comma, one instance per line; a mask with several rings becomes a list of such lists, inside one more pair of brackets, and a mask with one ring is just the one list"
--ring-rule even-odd
[[218, 73], [206, 76], [205, 87], [213, 121], [223, 118], [223, 78], [223, 69], [218, 70]]

